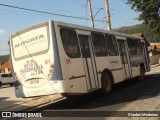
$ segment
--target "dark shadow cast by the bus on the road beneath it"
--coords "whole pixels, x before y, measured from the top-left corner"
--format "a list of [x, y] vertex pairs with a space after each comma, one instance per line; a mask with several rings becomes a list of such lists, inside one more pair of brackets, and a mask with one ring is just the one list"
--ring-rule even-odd
[[[144, 80], [131, 79], [114, 85], [113, 92], [108, 96], [102, 96], [99, 91], [69, 97], [65, 100], [50, 104], [48, 106], [36, 109], [42, 110], [74, 110], [74, 109], [97, 109], [110, 105], [135, 101], [139, 99], [148, 99], [157, 96], [160, 93], [160, 74], [146, 75]], [[141, 96], [146, 96], [145, 98]], [[123, 104], [123, 105], [124, 105]], [[122, 107], [118, 106], [116, 109]], [[115, 109], [114, 109], [115, 110]]]

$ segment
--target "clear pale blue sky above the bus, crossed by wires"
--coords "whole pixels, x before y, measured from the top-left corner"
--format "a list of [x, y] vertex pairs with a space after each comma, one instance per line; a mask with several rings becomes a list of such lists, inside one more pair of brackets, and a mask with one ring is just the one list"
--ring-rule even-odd
[[[89, 19], [89, 10], [86, 1], [87, 0], [0, 0], [0, 4]], [[130, 5], [126, 4], [127, 0], [108, 1], [112, 29], [141, 23], [141, 21], [136, 20], [139, 13], [132, 10]], [[105, 22], [105, 0], [91, 0], [91, 4], [93, 16], [96, 15], [101, 7], [103, 8], [94, 19], [104, 22], [95, 21], [95, 27], [107, 29]], [[0, 5], [0, 55], [9, 54], [8, 40], [13, 33], [27, 26], [48, 20], [91, 26], [89, 20], [36, 13]]]

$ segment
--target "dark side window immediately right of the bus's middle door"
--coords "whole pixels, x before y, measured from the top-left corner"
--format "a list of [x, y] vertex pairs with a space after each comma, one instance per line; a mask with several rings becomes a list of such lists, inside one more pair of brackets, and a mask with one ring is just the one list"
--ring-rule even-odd
[[130, 55], [136, 55], [137, 50], [136, 50], [135, 40], [133, 38], [127, 38], [127, 43]]

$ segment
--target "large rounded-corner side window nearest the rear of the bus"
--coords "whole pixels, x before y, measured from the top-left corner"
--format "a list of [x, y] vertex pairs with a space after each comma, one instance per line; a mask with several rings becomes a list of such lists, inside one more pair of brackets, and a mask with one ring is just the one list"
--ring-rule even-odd
[[80, 49], [78, 44], [78, 38], [75, 30], [61, 28], [60, 29], [63, 48], [68, 57], [80, 58]]

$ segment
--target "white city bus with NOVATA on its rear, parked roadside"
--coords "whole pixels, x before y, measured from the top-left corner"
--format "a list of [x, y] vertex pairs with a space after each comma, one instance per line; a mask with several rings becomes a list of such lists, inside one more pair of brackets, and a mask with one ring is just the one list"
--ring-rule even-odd
[[141, 37], [74, 24], [48, 21], [10, 37], [17, 97], [84, 94], [150, 70]]

